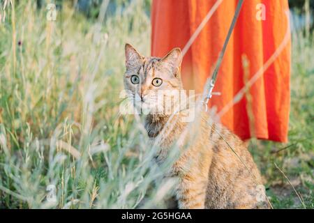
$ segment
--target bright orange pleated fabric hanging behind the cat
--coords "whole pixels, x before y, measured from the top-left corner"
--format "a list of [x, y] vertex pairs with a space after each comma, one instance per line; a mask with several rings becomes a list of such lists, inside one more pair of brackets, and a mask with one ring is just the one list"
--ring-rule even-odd
[[[214, 5], [216, 0], [154, 0], [152, 4], [152, 56], [164, 56], [174, 47], [184, 48], [190, 36]], [[256, 6], [266, 6], [266, 20], [257, 20]], [[236, 0], [224, 0], [190, 47], [182, 63], [181, 75], [186, 89], [202, 93], [230, 27]], [[221, 109], [244, 86], [241, 56], [246, 54], [250, 63], [249, 77], [259, 70], [274, 54], [288, 29], [285, 10], [287, 0], [246, 0], [228, 43], [223, 63], [218, 72], [214, 91], [222, 93], [209, 101], [209, 106]], [[253, 84], [252, 111], [255, 137], [287, 141], [290, 112], [290, 39], [281, 54]], [[248, 139], [249, 127], [246, 97], [220, 117], [221, 122]]]

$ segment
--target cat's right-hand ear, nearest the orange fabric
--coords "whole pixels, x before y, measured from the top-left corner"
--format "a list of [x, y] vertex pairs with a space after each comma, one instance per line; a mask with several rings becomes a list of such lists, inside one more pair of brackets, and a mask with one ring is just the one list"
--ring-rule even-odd
[[181, 49], [172, 49], [166, 56], [163, 57], [163, 59], [161, 59], [160, 63], [170, 69], [174, 77], [177, 77], [179, 75], [182, 63]]

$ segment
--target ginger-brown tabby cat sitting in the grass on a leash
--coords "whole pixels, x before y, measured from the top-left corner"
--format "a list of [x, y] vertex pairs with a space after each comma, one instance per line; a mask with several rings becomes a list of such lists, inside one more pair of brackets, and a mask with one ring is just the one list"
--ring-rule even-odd
[[148, 111], [144, 126], [160, 146], [156, 160], [163, 162], [179, 142], [180, 155], [170, 174], [179, 179], [179, 208], [269, 208], [260, 172], [239, 137], [220, 123], [210, 123], [204, 109], [195, 114], [197, 125], [190, 125], [182, 121], [184, 113], [173, 118], [165, 114], [165, 104], [158, 104], [157, 91], [166, 96], [167, 90], [183, 89], [181, 50], [174, 48], [163, 58], [144, 57], [126, 44], [125, 55], [124, 87]]

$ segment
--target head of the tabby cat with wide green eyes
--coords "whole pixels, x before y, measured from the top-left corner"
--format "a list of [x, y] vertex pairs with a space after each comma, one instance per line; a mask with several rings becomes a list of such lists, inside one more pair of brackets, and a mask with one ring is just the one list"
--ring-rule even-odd
[[[128, 97], [150, 114], [163, 114], [170, 93], [182, 89], [180, 68], [182, 53], [172, 49], [163, 58], [141, 56], [126, 44], [126, 72], [124, 88]], [[165, 96], [165, 97], [163, 97]], [[163, 100], [162, 100], [163, 99]]]

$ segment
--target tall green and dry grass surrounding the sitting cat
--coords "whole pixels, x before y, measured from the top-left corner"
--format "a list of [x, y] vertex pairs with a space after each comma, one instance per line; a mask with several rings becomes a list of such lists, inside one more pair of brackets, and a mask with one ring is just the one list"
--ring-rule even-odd
[[[103, 24], [32, 1], [0, 24], [0, 208], [163, 208], [172, 181], [151, 166], [138, 117], [119, 114], [124, 43], [149, 54], [147, 1], [119, 1]], [[1, 7], [2, 9], [2, 7]], [[1, 11], [3, 15], [3, 10]], [[251, 140], [274, 208], [314, 208], [314, 39], [292, 35], [289, 143]], [[284, 148], [282, 151], [276, 152]], [[77, 155], [77, 152], [79, 152]], [[47, 201], [47, 186], [57, 201]]]

